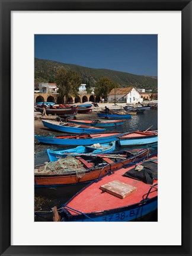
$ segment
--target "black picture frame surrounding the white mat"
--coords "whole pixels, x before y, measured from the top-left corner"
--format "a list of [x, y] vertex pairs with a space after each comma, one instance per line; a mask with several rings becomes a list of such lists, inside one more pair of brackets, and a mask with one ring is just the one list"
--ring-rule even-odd
[[[1, 255], [191, 255], [191, 1], [0, 0], [1, 7]], [[182, 245], [13, 246], [11, 245], [11, 11], [181, 11], [182, 17]], [[179, 96], [178, 96], [179, 97]], [[171, 127], [177, 129], [177, 127]], [[175, 138], [176, 139], [176, 138]], [[174, 159], [173, 159], [174, 161]], [[174, 182], [174, 177], [171, 182]], [[175, 206], [175, 209], [177, 206]], [[168, 217], [174, 214], [168, 213]], [[154, 234], [151, 231], [152, 234]], [[166, 231], [165, 231], [166, 232]], [[150, 239], [150, 238], [149, 238]]]

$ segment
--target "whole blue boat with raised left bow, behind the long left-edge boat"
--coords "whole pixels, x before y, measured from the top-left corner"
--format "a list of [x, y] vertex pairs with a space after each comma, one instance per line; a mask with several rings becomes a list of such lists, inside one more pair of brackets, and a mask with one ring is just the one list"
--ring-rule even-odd
[[85, 126], [82, 124], [73, 124], [73, 123], [58, 123], [57, 121], [42, 121], [45, 127], [48, 127], [52, 130], [64, 133], [102, 133], [105, 129]]

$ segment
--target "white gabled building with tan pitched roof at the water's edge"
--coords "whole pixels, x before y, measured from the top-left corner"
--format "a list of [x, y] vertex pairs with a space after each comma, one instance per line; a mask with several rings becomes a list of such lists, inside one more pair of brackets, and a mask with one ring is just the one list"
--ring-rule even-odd
[[139, 91], [135, 87], [112, 89], [108, 94], [108, 102], [114, 103], [115, 98], [116, 102], [119, 103], [138, 103], [143, 101], [143, 99], [140, 98]]

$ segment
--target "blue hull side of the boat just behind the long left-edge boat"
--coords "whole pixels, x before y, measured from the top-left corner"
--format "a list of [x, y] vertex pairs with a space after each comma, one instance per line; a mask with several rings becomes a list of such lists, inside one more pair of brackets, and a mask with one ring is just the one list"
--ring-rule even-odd
[[62, 126], [59, 124], [50, 123], [47, 121], [42, 121], [43, 125], [45, 127], [48, 127], [52, 130], [56, 130], [57, 132], [63, 132], [63, 133], [102, 133], [105, 131], [105, 129], [94, 129], [94, 128], [82, 128], [82, 127], [68, 127], [68, 126]]

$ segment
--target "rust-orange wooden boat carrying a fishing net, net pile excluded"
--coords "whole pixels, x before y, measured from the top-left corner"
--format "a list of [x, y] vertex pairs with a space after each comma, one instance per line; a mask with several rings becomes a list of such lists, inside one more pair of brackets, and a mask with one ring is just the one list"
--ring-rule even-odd
[[[84, 174], [78, 175], [78, 172], [73, 168], [71, 172], [46, 172], [44, 165], [35, 167], [38, 171], [35, 173], [35, 187], [56, 186], [56, 185], [72, 185], [86, 183], [103, 177], [108, 172], [115, 171], [124, 167], [130, 162], [137, 162], [138, 159], [147, 157], [149, 149], [135, 149], [132, 151], [113, 152], [106, 155], [82, 155], [78, 154], [75, 159], [85, 168]], [[66, 158], [65, 158], [66, 159]], [[57, 162], [54, 162], [55, 165]], [[40, 171], [40, 172], [39, 172]]]

